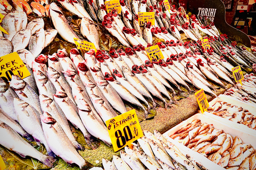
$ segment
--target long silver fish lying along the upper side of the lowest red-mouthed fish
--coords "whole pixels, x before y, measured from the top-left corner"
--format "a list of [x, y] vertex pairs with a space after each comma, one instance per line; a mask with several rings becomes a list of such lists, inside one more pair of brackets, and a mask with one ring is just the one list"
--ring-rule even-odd
[[40, 95], [39, 99], [43, 112], [47, 112], [52, 115], [52, 117], [60, 124], [68, 139], [73, 143], [76, 149], [83, 150], [83, 146], [76, 141], [73, 133], [70, 130], [68, 120], [57, 103], [45, 95]]

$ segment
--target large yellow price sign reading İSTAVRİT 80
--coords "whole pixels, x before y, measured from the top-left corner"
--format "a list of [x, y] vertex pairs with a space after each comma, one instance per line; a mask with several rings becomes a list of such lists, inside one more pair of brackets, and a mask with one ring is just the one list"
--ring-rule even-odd
[[128, 111], [106, 121], [108, 133], [114, 148], [118, 151], [143, 136], [135, 110]]

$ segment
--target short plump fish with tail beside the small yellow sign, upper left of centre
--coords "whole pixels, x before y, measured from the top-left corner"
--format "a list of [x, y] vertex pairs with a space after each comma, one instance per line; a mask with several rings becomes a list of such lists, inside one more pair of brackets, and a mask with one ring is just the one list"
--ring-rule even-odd
[[99, 46], [99, 32], [95, 27], [93, 21], [88, 18], [82, 18], [81, 21], [81, 33], [86, 37], [91, 43], [94, 44], [97, 50], [100, 50]]

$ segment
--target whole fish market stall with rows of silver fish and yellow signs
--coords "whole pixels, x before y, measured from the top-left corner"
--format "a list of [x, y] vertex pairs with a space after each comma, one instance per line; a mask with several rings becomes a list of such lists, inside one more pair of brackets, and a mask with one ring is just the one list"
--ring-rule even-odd
[[[215, 27], [167, 0], [3, 0], [0, 18], [0, 155], [7, 169], [221, 169], [243, 154], [234, 166], [254, 169], [255, 76], [247, 73], [256, 56], [244, 35], [234, 39], [218, 20]], [[200, 89], [212, 100], [209, 117], [196, 114]], [[132, 109], [144, 136], [115, 152], [107, 122]], [[211, 152], [204, 156], [185, 147], [197, 133], [169, 138], [195, 117], [202, 119], [197, 130], [207, 123], [218, 132], [207, 133]], [[241, 133], [243, 152], [220, 149], [219, 129], [225, 140]], [[135, 138], [129, 130], [115, 133], [119, 145]], [[205, 158], [213, 154], [225, 164]]]

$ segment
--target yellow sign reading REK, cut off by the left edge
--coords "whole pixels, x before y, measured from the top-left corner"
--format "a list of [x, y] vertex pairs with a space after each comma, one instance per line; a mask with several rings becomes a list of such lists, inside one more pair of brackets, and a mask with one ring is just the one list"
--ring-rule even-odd
[[0, 57], [0, 77], [11, 81], [12, 75], [18, 75], [21, 79], [30, 75], [17, 52]]

